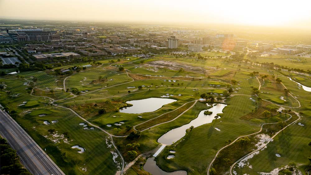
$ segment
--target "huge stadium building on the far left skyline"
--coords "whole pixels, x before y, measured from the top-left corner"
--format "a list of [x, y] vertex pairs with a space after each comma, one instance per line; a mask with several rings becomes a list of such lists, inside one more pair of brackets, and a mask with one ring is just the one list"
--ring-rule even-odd
[[48, 41], [51, 33], [42, 29], [17, 29], [7, 30], [14, 41]]

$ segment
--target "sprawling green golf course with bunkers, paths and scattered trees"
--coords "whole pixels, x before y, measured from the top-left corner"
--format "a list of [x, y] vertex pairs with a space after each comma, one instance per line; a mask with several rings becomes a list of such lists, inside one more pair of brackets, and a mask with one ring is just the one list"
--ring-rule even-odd
[[[203, 54], [230, 55], [202, 52], [201, 55], [204, 56]], [[209, 58], [205, 61], [163, 54], [146, 59], [122, 57], [120, 62], [117, 59], [99, 60], [102, 65], [93, 65], [70, 76], [57, 76], [53, 71], [47, 70], [19, 73], [24, 79], [17, 79], [16, 75], [6, 75], [0, 79], [4, 87], [0, 92], [2, 106], [9, 108], [9, 112], [16, 111], [11, 114], [14, 119], [42, 149], [46, 149], [47, 154], [66, 174], [122, 173], [123, 160], [129, 163], [139, 154], [153, 155], [161, 145], [158, 139], [162, 135], [188, 124], [198, 118], [202, 110], [213, 107], [205, 102], [194, 104], [193, 101], [201, 98], [200, 95], [204, 93], [205, 96], [202, 97], [211, 102], [209, 104], [221, 103], [227, 106], [218, 114], [220, 118], [192, 130], [185, 130], [185, 136], [167, 145], [155, 159], [162, 170], [185, 170], [188, 175], [207, 174], [209, 164], [216, 153], [228, 145], [228, 140], [233, 141], [240, 136], [258, 132], [264, 123], [287, 120], [289, 115], [279, 114], [277, 109], [280, 108], [302, 112], [303, 117], [299, 122], [305, 126], [290, 125], [265, 150], [248, 160], [253, 168], [244, 166], [234, 170], [238, 174], [270, 172], [288, 164], [290, 160], [299, 163], [300, 170], [306, 168], [311, 92], [303, 90], [287, 76], [276, 70], [225, 58]], [[109, 63], [110, 60], [115, 62]], [[141, 60], [144, 62], [140, 62]], [[120, 71], [119, 67], [124, 67], [125, 70]], [[259, 74], [251, 75], [253, 71], [258, 71]], [[307, 77], [282, 73], [290, 74], [295, 81], [310, 87]], [[262, 75], [268, 75], [268, 78], [262, 80]], [[277, 83], [272, 76], [280, 78], [282, 83]], [[38, 80], [32, 82], [33, 77]], [[69, 92], [64, 90], [64, 84]], [[289, 93], [285, 93], [284, 86]], [[254, 94], [254, 87], [260, 89], [258, 95]], [[73, 93], [75, 88], [80, 93]], [[229, 92], [231, 88], [232, 92]], [[139, 106], [127, 102], [148, 98], [176, 101], [144, 113], [125, 113], [122, 109], [148, 108], [142, 107], [143, 104]], [[154, 106], [156, 103], [154, 101], [147, 105]], [[263, 113], [266, 110], [268, 115]], [[177, 116], [179, 117], [175, 118]], [[291, 120], [294, 119], [297, 116]], [[82, 122], [84, 124], [79, 125]], [[279, 125], [275, 128], [279, 129], [278, 127]], [[262, 133], [267, 134], [268, 128], [265, 126]], [[110, 141], [111, 138], [115, 145]], [[220, 151], [220, 159], [212, 165], [216, 171], [218, 169], [218, 174], [229, 171], [233, 162], [255, 148], [259, 139], [250, 136], [250, 140], [243, 151], [233, 149], [238, 142]], [[71, 148], [75, 145], [84, 148], [84, 153]], [[170, 150], [176, 151], [173, 159], [167, 159], [172, 154]], [[230, 163], [223, 166], [221, 160], [228, 152]], [[281, 154], [280, 159], [273, 155], [275, 152]], [[270, 159], [272, 163], [262, 164], [262, 161], [268, 162]], [[133, 166], [140, 165], [140, 162], [144, 162], [144, 159], [140, 158]], [[124, 173], [147, 174], [138, 169], [130, 168]]]

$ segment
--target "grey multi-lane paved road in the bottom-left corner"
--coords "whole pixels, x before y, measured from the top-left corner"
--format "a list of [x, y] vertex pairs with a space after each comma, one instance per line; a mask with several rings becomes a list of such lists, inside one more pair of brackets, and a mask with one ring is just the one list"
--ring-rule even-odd
[[65, 175], [15, 120], [0, 110], [0, 133], [34, 175]]

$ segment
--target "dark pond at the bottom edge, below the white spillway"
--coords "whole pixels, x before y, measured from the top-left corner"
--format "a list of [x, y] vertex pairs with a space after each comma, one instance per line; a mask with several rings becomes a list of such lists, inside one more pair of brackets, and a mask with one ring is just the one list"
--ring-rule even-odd
[[174, 171], [171, 173], [165, 172], [156, 165], [156, 161], [154, 159], [154, 157], [148, 158], [143, 167], [145, 171], [151, 173], [152, 175], [187, 175], [187, 171]]

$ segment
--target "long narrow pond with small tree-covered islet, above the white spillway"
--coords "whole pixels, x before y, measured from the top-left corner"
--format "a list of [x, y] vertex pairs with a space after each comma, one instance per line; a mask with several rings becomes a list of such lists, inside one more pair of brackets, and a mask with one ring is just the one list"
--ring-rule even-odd
[[183, 125], [181, 127], [172, 129], [162, 135], [159, 139], [158, 142], [162, 143], [164, 145], [172, 145], [179, 139], [183, 138], [186, 134], [186, 130], [189, 129], [191, 126], [199, 127], [201, 125], [211, 123], [215, 118], [215, 116], [218, 113], [222, 113], [222, 110], [226, 107], [226, 104], [216, 104], [216, 106], [213, 106], [212, 108], [209, 108], [208, 111], [213, 112], [211, 115], [204, 115], [204, 111], [207, 110], [202, 110], [198, 117], [192, 120], [190, 123]]

